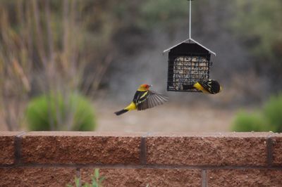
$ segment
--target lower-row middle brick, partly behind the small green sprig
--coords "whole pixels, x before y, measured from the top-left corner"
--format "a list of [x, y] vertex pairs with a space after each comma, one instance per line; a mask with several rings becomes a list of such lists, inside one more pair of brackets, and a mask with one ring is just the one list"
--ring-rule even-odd
[[[82, 183], [91, 183], [94, 169], [81, 169]], [[201, 186], [200, 169], [99, 169], [103, 186]]]

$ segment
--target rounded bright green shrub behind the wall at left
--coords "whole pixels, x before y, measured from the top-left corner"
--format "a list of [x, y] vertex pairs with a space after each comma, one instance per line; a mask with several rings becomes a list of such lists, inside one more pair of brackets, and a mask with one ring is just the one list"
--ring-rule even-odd
[[78, 93], [33, 98], [25, 112], [31, 131], [91, 131], [95, 128], [91, 102]]

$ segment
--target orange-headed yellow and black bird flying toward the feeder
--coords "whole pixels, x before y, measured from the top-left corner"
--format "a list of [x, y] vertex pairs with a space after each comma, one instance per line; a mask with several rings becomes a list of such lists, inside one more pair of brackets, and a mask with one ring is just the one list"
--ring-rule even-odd
[[130, 110], [146, 110], [148, 108], [153, 108], [154, 106], [161, 105], [168, 100], [166, 96], [149, 90], [152, 85], [141, 84], [135, 95], [133, 101], [123, 110], [115, 112], [116, 115], [122, 115]]

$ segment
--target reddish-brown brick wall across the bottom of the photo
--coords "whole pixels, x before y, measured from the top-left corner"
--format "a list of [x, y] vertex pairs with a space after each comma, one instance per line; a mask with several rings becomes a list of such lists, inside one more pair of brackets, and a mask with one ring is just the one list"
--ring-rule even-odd
[[282, 186], [282, 134], [0, 132], [0, 186]]

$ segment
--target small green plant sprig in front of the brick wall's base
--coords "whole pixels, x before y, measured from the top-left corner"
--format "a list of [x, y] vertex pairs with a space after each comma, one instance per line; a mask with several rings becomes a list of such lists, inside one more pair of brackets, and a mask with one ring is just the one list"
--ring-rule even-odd
[[[104, 181], [105, 177], [100, 176], [99, 169], [94, 169], [94, 174], [92, 175], [92, 183], [85, 183], [82, 187], [102, 187], [102, 181]], [[80, 187], [80, 179], [75, 176], [75, 187]], [[68, 187], [73, 187], [70, 184]]]

